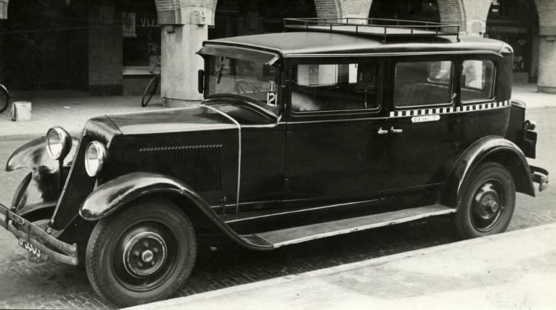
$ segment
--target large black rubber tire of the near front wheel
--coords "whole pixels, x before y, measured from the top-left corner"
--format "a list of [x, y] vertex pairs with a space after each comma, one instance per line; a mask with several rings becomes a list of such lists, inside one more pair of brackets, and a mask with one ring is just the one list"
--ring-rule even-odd
[[[155, 282], [156, 285], [146, 288], [148, 278], [136, 279], [136, 275], [129, 271], [129, 259], [128, 264], [125, 256], [120, 260], [118, 251], [122, 249], [121, 245], [125, 241], [128, 241], [127, 249], [133, 236], [139, 236], [151, 229], [145, 228], [149, 225], [163, 227], [167, 234], [162, 235], [171, 238], [164, 238], [170, 247], [166, 249], [167, 260], [161, 259], [163, 267], [158, 270], [161, 274], [160, 279]], [[138, 243], [141, 242], [144, 241]], [[170, 251], [174, 253], [171, 255]], [[196, 256], [195, 230], [188, 216], [170, 201], [147, 200], [128, 205], [97, 223], [88, 241], [85, 266], [93, 289], [102, 298], [118, 307], [129, 307], [162, 300], [174, 294], [188, 279]], [[174, 261], [170, 257], [174, 257]], [[118, 266], [119, 264], [128, 268], [126, 275], [122, 276], [124, 269]], [[158, 271], [154, 275], [158, 275]], [[145, 286], [142, 286], [143, 281]]]

